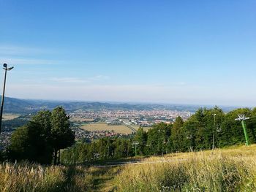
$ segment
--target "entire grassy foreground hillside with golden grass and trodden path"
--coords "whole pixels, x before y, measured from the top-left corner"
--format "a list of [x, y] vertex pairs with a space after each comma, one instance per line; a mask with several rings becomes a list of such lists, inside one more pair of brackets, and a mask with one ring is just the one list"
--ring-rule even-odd
[[1, 164], [0, 191], [256, 191], [256, 145], [124, 166]]

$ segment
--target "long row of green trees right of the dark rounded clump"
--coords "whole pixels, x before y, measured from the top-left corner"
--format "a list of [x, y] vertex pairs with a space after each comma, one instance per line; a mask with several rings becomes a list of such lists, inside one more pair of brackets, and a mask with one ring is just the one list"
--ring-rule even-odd
[[[163, 155], [166, 153], [208, 150], [214, 147], [244, 145], [241, 122], [235, 120], [244, 114], [249, 142], [256, 142], [256, 108], [241, 108], [223, 112], [219, 107], [200, 108], [188, 120], [176, 118], [173, 124], [159, 123], [145, 131], [139, 128], [132, 139], [109, 137], [96, 142], [78, 143], [61, 153], [64, 164], [83, 164], [111, 158], [135, 155]], [[214, 135], [214, 137], [213, 137]]]

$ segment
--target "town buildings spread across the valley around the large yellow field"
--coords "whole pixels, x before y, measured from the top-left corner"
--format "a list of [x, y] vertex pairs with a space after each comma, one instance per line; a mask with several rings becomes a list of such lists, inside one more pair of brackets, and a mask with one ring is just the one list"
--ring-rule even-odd
[[[132, 128], [132, 125], [151, 127], [157, 123], [173, 123], [180, 116], [187, 120], [190, 112], [170, 111], [170, 110], [99, 110], [86, 111], [77, 110], [69, 113], [70, 118], [91, 119], [105, 121], [109, 125], [125, 125]], [[75, 123], [74, 123], [75, 125]], [[72, 126], [76, 139], [99, 139], [102, 137], [126, 137], [125, 134], [117, 134], [114, 131], [85, 131], [78, 126]], [[6, 149], [10, 145], [10, 138], [13, 130], [3, 130], [0, 134], [0, 150]], [[135, 130], [136, 131], [136, 130]]]

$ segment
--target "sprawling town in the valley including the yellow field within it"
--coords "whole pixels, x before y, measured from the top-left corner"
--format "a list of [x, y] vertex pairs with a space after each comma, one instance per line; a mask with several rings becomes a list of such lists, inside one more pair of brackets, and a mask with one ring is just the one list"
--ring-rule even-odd
[[[139, 127], [143, 127], [147, 130], [147, 128], [151, 128], [157, 123], [173, 123], [178, 116], [187, 120], [192, 114], [193, 112], [177, 110], [76, 110], [68, 113], [72, 131], [75, 132], [75, 138], [87, 142], [103, 137], [126, 138], [131, 134], [135, 134]], [[105, 123], [106, 125], [102, 126], [102, 130], [100, 130], [100, 128], [97, 128], [97, 130], [81, 128], [81, 126], [86, 124], [97, 125], [99, 122]], [[118, 130], [118, 126], [120, 125], [123, 125], [128, 131]], [[0, 134], [0, 150], [4, 150], [10, 145], [12, 131], [15, 131], [14, 127], [3, 128]]]

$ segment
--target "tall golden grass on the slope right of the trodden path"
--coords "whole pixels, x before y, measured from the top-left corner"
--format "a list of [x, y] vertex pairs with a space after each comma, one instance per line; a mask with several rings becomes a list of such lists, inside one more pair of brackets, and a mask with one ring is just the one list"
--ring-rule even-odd
[[256, 145], [144, 161], [165, 162], [125, 166], [117, 191], [256, 191]]

